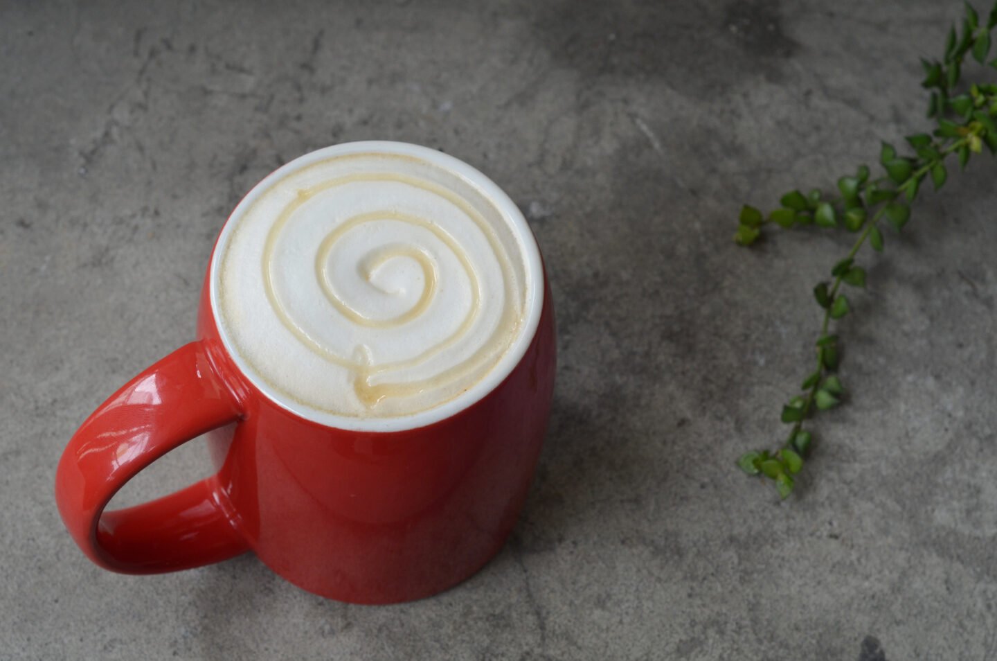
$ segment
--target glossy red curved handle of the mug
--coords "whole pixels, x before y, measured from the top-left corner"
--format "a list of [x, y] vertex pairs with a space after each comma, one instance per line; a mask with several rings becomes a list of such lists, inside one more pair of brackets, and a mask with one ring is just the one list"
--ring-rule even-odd
[[200, 340], [176, 349], [101, 404], [73, 435], [56, 470], [59, 513], [83, 552], [106, 569], [155, 574], [247, 550], [217, 475], [151, 502], [104, 511], [140, 470], [241, 416]]

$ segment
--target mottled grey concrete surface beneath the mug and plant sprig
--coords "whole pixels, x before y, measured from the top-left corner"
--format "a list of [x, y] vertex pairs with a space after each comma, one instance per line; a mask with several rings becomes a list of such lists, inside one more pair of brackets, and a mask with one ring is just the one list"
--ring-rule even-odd
[[[278, 6], [279, 5], [279, 6]], [[798, 496], [733, 466], [783, 433], [811, 287], [845, 250], [730, 241], [924, 128], [956, 2], [0, 4], [0, 657], [993, 659], [997, 167], [928, 194], [844, 321], [851, 401]], [[239, 197], [331, 143], [439, 147], [523, 208], [559, 321], [512, 541], [440, 596], [325, 601], [252, 556], [155, 577], [74, 546], [53, 472], [193, 332]], [[204, 474], [191, 444], [138, 502]], [[874, 639], [873, 639], [874, 638]], [[884, 655], [884, 656], [883, 656]]]

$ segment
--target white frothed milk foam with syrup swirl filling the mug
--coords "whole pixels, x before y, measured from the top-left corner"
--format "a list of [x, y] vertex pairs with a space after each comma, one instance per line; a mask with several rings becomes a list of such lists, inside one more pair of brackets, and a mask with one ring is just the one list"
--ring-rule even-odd
[[306, 415], [397, 417], [461, 397], [521, 343], [542, 295], [528, 229], [497, 195], [460, 162], [392, 143], [278, 170], [215, 251], [229, 350]]

